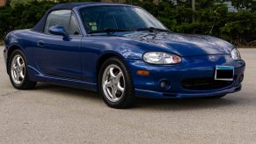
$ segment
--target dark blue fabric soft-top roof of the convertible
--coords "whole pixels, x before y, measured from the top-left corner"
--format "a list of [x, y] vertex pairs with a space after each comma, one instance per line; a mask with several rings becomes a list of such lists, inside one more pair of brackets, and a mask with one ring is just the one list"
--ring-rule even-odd
[[[99, 5], [99, 4], [111, 4], [111, 3], [99, 3], [99, 2], [84, 2], [84, 3], [67, 3], [67, 4], [55, 4], [51, 9], [49, 9], [42, 18], [40, 18], [40, 21], [34, 25], [32, 28], [35, 32], [44, 32], [44, 25], [48, 18], [48, 13], [55, 10], [72, 10], [78, 6], [86, 6], [86, 5]], [[113, 5], [113, 4], [111, 4]], [[125, 5], [125, 4], [114, 4], [114, 5]]]

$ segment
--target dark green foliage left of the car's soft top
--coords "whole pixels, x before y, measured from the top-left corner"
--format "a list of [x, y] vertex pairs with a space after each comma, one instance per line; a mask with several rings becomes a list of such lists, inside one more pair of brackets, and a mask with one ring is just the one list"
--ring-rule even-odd
[[12, 30], [33, 27], [54, 4], [51, 1], [31, 1], [0, 8], [0, 40], [4, 40], [5, 34]]

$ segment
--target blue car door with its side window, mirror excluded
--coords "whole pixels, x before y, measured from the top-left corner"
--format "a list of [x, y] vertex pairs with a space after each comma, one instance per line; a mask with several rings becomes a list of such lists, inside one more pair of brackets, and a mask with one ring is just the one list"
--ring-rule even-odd
[[[69, 39], [52, 35], [49, 27], [62, 25]], [[48, 76], [81, 79], [80, 45], [82, 33], [72, 11], [52, 11], [47, 18], [43, 37], [37, 41], [36, 61], [40, 70]]]

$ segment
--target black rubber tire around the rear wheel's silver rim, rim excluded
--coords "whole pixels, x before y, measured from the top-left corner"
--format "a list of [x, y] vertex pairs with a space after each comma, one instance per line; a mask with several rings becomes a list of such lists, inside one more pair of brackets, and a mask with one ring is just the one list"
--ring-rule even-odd
[[[24, 64], [25, 64], [25, 72], [24, 72], [25, 74], [24, 74], [24, 78], [23, 78], [22, 83], [15, 83], [12, 76], [11, 76], [12, 75], [11, 74], [11, 62], [18, 55], [20, 55], [22, 57], [22, 59], [24, 60]], [[26, 57], [25, 57], [25, 54], [23, 54], [23, 52], [19, 49], [15, 50], [11, 53], [11, 57], [10, 57], [9, 62], [8, 62], [8, 74], [9, 74], [9, 77], [10, 77], [10, 80], [11, 80], [11, 84], [13, 85], [13, 87], [15, 89], [18, 89], [18, 90], [33, 89], [35, 87], [36, 83], [37, 83], [37, 82], [33, 82], [33, 81], [29, 80], [28, 71], [27, 71]]]

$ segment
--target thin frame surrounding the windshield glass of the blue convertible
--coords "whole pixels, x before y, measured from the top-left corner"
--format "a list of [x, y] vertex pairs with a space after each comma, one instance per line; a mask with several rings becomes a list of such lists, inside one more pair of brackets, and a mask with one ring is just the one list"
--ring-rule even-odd
[[[91, 4], [91, 5], [86, 5], [86, 6], [81, 6], [77, 9], [77, 14], [79, 15], [79, 18], [80, 18], [80, 22], [82, 23], [83, 25], [83, 29], [84, 29], [84, 32], [86, 34], [91, 34], [91, 33], [94, 33], [93, 31], [88, 31], [85, 27], [85, 24], [84, 24], [84, 18], [82, 16], [82, 12], [84, 9], [88, 9], [88, 8], [91, 8], [91, 7], [106, 7], [106, 6], [116, 6], [116, 7], [132, 7], [132, 8], [137, 8], [137, 9], [140, 9], [142, 11], [144, 11], [146, 14], [148, 14], [150, 17], [153, 17], [157, 20], [157, 22], [162, 25], [165, 29], [163, 30], [166, 30], [168, 32], [170, 32], [170, 30], [160, 21], [158, 20], [156, 17], [154, 17], [149, 11], [146, 11], [144, 10], [143, 8], [139, 7], [139, 6], [135, 6], [135, 5], [128, 5], [128, 4], [97, 4], [97, 5], [94, 5], [94, 4]], [[136, 30], [128, 30], [128, 32], [137, 32]]]

